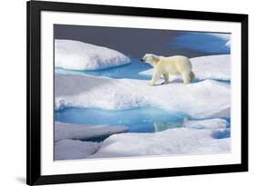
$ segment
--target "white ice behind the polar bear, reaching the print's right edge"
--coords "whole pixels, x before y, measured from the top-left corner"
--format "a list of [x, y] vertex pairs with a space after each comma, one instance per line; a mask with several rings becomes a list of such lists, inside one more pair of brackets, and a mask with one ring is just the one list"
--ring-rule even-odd
[[[194, 57], [190, 62], [197, 79], [230, 81], [230, 54]], [[152, 76], [152, 73], [153, 69], [149, 69], [139, 74]], [[181, 80], [181, 76], [169, 75], [169, 80]]]

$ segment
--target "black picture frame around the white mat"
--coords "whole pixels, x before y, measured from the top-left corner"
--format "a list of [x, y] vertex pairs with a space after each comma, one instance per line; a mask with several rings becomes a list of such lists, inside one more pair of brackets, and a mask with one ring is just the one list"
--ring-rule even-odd
[[[27, 130], [26, 130], [26, 183], [28, 185], [83, 181], [112, 181], [167, 177], [222, 172], [248, 171], [248, 15], [210, 13], [112, 5], [85, 5], [29, 1], [26, 4], [27, 39]], [[133, 15], [148, 17], [181, 18], [241, 23], [241, 163], [199, 167], [180, 167], [140, 171], [109, 171], [74, 173], [65, 175], [41, 174], [41, 70], [40, 29], [41, 11], [92, 13], [101, 15]]]

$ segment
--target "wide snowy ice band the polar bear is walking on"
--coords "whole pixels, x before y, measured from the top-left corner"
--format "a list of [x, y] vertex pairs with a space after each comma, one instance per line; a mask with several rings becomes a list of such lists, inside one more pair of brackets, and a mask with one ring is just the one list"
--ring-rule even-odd
[[214, 80], [149, 86], [147, 81], [56, 74], [55, 109], [156, 106], [193, 118], [230, 117], [230, 85]]

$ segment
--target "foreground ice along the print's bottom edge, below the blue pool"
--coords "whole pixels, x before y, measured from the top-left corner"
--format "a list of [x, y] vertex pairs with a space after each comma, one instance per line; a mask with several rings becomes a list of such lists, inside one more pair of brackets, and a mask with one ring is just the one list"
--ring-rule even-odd
[[[55, 160], [230, 152], [230, 129], [224, 120], [184, 123], [163, 132], [138, 133], [122, 126], [56, 122]], [[84, 141], [102, 134], [112, 135], [103, 142]]]

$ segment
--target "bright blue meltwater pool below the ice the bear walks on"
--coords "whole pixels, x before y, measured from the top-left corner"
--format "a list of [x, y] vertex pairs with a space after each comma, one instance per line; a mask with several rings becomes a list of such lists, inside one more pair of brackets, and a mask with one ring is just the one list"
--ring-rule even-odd
[[59, 122], [126, 125], [129, 132], [159, 132], [180, 127], [185, 117], [188, 116], [184, 113], [169, 113], [154, 107], [120, 111], [67, 108], [55, 114]]

